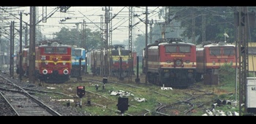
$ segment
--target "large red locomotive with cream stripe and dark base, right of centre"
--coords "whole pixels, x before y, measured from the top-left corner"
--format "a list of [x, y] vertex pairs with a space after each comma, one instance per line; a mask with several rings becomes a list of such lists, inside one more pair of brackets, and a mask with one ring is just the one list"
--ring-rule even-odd
[[148, 44], [148, 71], [145, 54], [143, 73], [155, 85], [187, 88], [195, 82], [196, 46], [181, 39], [159, 39]]

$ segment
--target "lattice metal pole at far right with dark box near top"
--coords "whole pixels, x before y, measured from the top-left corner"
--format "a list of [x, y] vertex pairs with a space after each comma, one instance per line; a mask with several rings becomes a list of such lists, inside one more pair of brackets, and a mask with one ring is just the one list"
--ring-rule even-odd
[[[248, 65], [248, 41], [249, 41], [249, 26], [255, 25], [255, 13], [247, 12], [247, 7], [237, 7], [235, 12], [235, 25], [237, 26], [238, 46], [238, 74], [239, 74], [239, 115], [244, 107], [244, 114], [247, 114], [247, 77], [249, 75]], [[242, 106], [244, 104], [244, 106]]]

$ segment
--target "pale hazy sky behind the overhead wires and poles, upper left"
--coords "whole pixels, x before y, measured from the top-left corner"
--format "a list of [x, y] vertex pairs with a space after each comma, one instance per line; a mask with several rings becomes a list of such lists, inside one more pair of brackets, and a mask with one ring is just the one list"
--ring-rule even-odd
[[[29, 13], [30, 7], [20, 7], [20, 10], [24, 10], [23, 13]], [[134, 17], [133, 24], [138, 23], [134, 27], [134, 36], [138, 34], [145, 34], [146, 25], [141, 22], [141, 20], [145, 21], [146, 15], [146, 7], [133, 7], [134, 15], [139, 15], [138, 17]], [[158, 11], [161, 7], [148, 7], [148, 20], [159, 20]], [[47, 7], [47, 15], [53, 13], [56, 7]], [[128, 40], [129, 36], [129, 16], [128, 7], [110, 7], [110, 12], [112, 13], [113, 18], [112, 29], [113, 35], [112, 40], [118, 40], [123, 42], [124, 40]], [[42, 20], [42, 7], [38, 7], [39, 19]], [[104, 18], [105, 15], [105, 7], [70, 7], [66, 13], [64, 12], [55, 12], [50, 18], [48, 18], [46, 23], [39, 23], [42, 34], [47, 36], [48, 38], [53, 38], [53, 33], [60, 31], [61, 27], [66, 28], [77, 28], [75, 23], [83, 23], [83, 20], [86, 22], [86, 28], [91, 28], [92, 31], [99, 31], [100, 27], [100, 19]], [[17, 15], [18, 16], [18, 15]], [[19, 16], [18, 16], [19, 17]], [[65, 18], [71, 18], [69, 20], [64, 20]], [[29, 23], [29, 16], [23, 15], [23, 20]], [[18, 20], [15, 20], [18, 21]], [[61, 24], [62, 23], [62, 24]], [[79, 25], [80, 29], [81, 25]], [[149, 31], [149, 27], [148, 27]]]

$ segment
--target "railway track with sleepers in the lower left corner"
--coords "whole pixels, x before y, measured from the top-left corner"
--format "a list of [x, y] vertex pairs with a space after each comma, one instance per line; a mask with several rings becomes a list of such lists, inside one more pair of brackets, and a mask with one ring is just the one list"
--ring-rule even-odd
[[[5, 111], [10, 110], [10, 115], [16, 116], [61, 116], [59, 112], [31, 96], [28, 91], [16, 85], [12, 80], [0, 74], [1, 101]], [[5, 105], [3, 105], [5, 104]], [[3, 114], [3, 113], [1, 113]]]

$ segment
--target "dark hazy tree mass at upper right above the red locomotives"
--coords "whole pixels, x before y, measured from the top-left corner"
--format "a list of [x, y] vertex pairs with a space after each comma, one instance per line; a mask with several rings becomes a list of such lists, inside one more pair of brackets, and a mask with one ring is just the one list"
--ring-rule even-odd
[[[227, 42], [233, 43], [236, 41], [234, 25], [234, 12], [236, 7], [169, 7], [170, 15], [181, 23], [181, 28], [185, 30], [181, 34], [182, 37], [192, 39], [192, 32], [195, 29], [195, 42], [200, 44], [203, 42], [203, 35], [206, 41], [224, 41], [224, 33], [229, 35]], [[255, 7], [248, 7], [248, 12]], [[162, 8], [162, 16], [165, 18], [165, 7]], [[205, 20], [203, 20], [205, 18]], [[194, 21], [195, 20], [195, 21]], [[173, 20], [170, 21], [170, 23]], [[195, 22], [195, 25], [193, 23]], [[204, 27], [205, 26], [205, 27]], [[205, 28], [205, 30], [203, 30]], [[203, 32], [205, 31], [205, 32]], [[250, 28], [251, 32], [256, 32], [255, 28]], [[255, 35], [252, 33], [252, 38]]]

